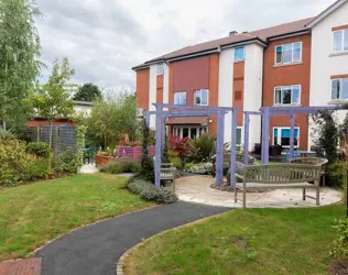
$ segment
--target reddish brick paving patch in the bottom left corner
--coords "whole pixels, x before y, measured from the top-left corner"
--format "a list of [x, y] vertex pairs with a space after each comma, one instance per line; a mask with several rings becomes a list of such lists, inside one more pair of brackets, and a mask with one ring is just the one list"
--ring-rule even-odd
[[0, 275], [40, 275], [41, 257], [11, 260], [0, 263]]

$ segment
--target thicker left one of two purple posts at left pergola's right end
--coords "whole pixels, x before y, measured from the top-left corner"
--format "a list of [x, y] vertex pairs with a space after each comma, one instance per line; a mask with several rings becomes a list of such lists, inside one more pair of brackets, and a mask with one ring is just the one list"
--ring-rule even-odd
[[218, 134], [216, 142], [216, 185], [220, 185], [224, 179], [224, 130], [225, 130], [225, 112], [218, 111]]

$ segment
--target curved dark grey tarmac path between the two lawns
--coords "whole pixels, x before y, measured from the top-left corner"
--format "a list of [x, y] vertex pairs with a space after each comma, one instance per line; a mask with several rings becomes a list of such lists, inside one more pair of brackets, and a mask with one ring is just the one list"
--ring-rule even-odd
[[36, 253], [42, 275], [115, 275], [116, 262], [128, 249], [164, 230], [230, 210], [176, 202], [90, 224], [64, 235]]

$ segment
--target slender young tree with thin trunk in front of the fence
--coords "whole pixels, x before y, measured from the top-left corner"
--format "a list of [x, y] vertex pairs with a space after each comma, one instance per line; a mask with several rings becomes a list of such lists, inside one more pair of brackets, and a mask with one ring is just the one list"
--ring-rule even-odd
[[74, 112], [74, 101], [70, 98], [76, 85], [68, 84], [74, 75], [75, 70], [69, 68], [67, 58], [63, 59], [62, 65], [55, 61], [48, 81], [44, 85], [36, 84], [29, 98], [36, 114], [48, 120], [51, 147], [53, 122], [61, 118], [68, 118]]

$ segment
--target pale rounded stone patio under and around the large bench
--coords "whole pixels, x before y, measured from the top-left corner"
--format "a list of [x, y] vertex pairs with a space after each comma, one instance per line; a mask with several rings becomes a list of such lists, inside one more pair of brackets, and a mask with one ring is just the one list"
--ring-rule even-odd
[[[211, 176], [186, 176], [176, 179], [176, 194], [180, 200], [198, 202], [210, 206], [241, 208], [242, 194], [238, 194], [235, 204], [235, 194], [210, 188], [214, 183]], [[315, 196], [315, 190], [307, 190], [307, 195]], [[337, 204], [342, 199], [339, 190], [323, 187], [320, 189], [320, 206]], [[296, 208], [316, 207], [315, 200], [302, 200], [302, 189], [276, 189], [267, 193], [248, 193], [248, 208]]]

